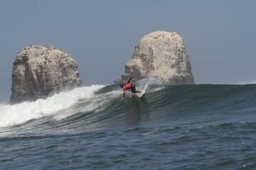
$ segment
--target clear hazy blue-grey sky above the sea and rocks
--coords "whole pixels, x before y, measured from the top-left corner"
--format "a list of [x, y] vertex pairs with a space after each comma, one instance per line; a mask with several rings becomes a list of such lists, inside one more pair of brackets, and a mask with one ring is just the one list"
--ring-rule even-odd
[[181, 35], [196, 84], [256, 83], [255, 8], [253, 0], [1, 0], [0, 100], [9, 100], [23, 47], [55, 45], [78, 62], [83, 86], [112, 84], [156, 30]]

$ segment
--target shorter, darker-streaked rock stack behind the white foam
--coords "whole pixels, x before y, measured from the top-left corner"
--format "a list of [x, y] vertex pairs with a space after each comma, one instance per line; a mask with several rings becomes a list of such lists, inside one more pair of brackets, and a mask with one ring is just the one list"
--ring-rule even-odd
[[46, 98], [82, 84], [75, 60], [63, 50], [44, 45], [18, 52], [11, 78], [11, 104]]

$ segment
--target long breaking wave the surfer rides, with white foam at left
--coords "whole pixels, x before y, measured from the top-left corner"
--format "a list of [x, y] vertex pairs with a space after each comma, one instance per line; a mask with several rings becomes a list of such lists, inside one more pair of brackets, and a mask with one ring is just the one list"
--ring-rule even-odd
[[218, 115], [227, 115], [228, 120], [228, 115], [245, 115], [256, 111], [253, 84], [171, 86], [145, 79], [137, 82], [137, 89], [146, 90], [146, 94], [138, 98], [127, 91], [124, 101], [120, 100], [122, 89], [118, 84], [111, 84], [84, 86], [34, 102], [12, 106], [2, 104], [0, 128], [43, 124], [45, 130], [50, 126], [50, 130], [55, 132], [78, 132], [90, 128], [173, 122], [179, 119], [199, 123], [198, 118], [213, 121]]

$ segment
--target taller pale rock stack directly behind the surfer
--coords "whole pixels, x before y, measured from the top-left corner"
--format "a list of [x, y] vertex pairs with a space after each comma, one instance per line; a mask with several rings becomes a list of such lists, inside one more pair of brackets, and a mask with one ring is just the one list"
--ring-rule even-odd
[[194, 84], [183, 40], [177, 33], [156, 31], [139, 40], [121, 81], [156, 77], [164, 84]]

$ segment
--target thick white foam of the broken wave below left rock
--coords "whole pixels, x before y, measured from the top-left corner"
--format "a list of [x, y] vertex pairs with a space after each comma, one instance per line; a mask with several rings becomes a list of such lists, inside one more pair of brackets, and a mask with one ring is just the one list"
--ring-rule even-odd
[[0, 106], [0, 127], [17, 125], [28, 120], [58, 114], [58, 111], [73, 106], [79, 100], [93, 98], [95, 96], [94, 92], [102, 87], [104, 85], [85, 86], [55, 94], [46, 99], [38, 99], [34, 102], [23, 102], [16, 105], [3, 104]]

